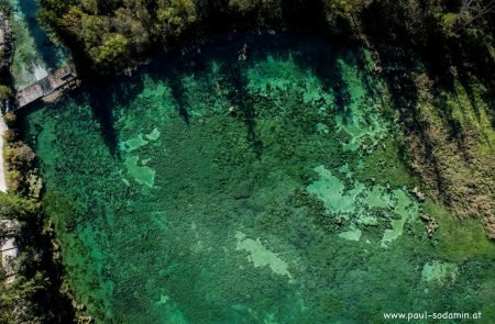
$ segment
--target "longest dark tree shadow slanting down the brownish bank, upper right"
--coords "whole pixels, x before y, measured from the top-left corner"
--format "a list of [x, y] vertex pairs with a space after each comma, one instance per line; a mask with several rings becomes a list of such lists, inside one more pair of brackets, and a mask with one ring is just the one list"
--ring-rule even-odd
[[[376, 20], [382, 8], [381, 3], [372, 3], [362, 14], [363, 29], [367, 40], [372, 44], [374, 54], [382, 63], [382, 78], [388, 89], [393, 107], [399, 113], [402, 129], [406, 136], [417, 137], [424, 145], [422, 156], [427, 157], [427, 168], [435, 183], [435, 190], [443, 187], [440, 161], [433, 154], [435, 143], [431, 143], [427, 134], [428, 125], [420, 120], [418, 111], [419, 94], [414, 79], [415, 71], [421, 71], [418, 62], [421, 57], [417, 55], [405, 25], [397, 22], [404, 21], [398, 16], [385, 16]], [[400, 12], [397, 10], [396, 12]], [[384, 32], [384, 29], [388, 32]], [[400, 149], [399, 157], [405, 166], [410, 166], [410, 149]]]

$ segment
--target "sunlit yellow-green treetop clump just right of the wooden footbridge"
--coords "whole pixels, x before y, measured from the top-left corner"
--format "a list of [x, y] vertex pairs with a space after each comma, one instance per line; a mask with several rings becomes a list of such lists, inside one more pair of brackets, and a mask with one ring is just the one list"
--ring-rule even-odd
[[144, 53], [153, 40], [180, 36], [196, 21], [193, 0], [41, 0], [42, 24], [55, 37], [82, 49], [97, 68], [121, 68]]

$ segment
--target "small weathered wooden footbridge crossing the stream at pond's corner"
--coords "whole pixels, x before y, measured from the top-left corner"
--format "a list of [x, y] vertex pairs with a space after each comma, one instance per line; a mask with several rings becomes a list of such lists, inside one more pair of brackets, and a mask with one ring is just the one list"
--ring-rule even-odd
[[21, 109], [55, 91], [77, 86], [77, 72], [74, 65], [64, 66], [37, 82], [20, 90], [15, 97], [16, 109]]

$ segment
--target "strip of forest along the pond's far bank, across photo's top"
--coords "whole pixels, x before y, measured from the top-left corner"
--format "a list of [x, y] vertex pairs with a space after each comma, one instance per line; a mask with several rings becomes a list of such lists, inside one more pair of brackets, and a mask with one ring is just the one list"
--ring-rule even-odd
[[417, 55], [431, 56], [432, 60], [440, 57], [453, 60], [449, 56], [462, 49], [459, 54], [477, 54], [483, 62], [490, 57], [493, 45], [491, 13], [495, 5], [493, 1], [469, 0], [40, 0], [40, 3], [43, 25], [95, 69], [128, 67], [152, 49], [167, 49], [235, 29], [317, 30], [343, 40], [366, 35], [375, 43], [394, 44]]

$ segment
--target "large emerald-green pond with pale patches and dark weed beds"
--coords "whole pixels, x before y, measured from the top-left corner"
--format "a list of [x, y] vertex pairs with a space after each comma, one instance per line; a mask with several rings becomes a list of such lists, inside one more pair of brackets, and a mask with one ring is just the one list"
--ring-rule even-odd
[[[248, 59], [239, 51], [248, 44]], [[76, 298], [97, 322], [494, 316], [495, 245], [411, 193], [359, 47], [238, 40], [25, 116]], [[419, 215], [440, 224], [427, 237]]]

